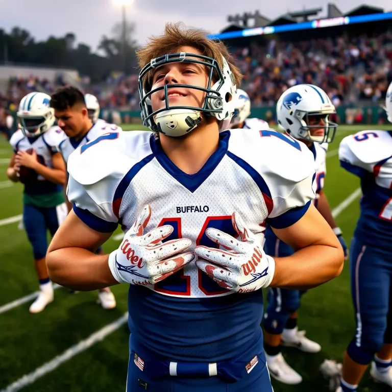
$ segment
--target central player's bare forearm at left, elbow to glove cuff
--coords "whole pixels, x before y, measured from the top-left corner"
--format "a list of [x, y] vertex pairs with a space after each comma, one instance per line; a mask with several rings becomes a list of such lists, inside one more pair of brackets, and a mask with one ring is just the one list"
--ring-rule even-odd
[[78, 291], [118, 284], [108, 265], [109, 255], [96, 255], [82, 248], [62, 248], [46, 254], [49, 277], [61, 286]]

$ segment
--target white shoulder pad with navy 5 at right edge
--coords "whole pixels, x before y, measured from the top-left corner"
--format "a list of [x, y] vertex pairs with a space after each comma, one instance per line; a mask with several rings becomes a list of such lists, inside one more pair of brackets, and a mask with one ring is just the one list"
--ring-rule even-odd
[[340, 152], [344, 155], [346, 149], [350, 150], [360, 162], [377, 163], [392, 155], [392, 137], [386, 131], [361, 131], [346, 136], [340, 142], [339, 155]]

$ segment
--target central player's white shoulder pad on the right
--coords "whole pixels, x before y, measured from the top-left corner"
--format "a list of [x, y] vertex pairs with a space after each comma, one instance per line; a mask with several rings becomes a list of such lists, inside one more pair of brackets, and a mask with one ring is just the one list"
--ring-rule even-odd
[[300, 182], [314, 171], [314, 156], [307, 146], [289, 135], [272, 129], [236, 129], [229, 151], [260, 173]]

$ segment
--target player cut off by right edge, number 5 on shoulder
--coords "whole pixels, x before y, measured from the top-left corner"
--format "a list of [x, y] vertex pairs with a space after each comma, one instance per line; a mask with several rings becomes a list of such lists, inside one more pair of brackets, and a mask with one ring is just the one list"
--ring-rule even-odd
[[[392, 122], [392, 83], [386, 94]], [[361, 180], [361, 213], [350, 247], [356, 333], [344, 355], [338, 391], [353, 392], [370, 375], [392, 387], [392, 131], [362, 131], [339, 146], [343, 168]]]

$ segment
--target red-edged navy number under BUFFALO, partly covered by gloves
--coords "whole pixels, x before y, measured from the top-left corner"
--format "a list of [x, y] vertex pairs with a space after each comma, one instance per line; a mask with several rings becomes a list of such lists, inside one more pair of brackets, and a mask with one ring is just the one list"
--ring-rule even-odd
[[[181, 218], [163, 218], [158, 227], [163, 225], [173, 226], [174, 231], [162, 242], [169, 241], [171, 239], [182, 238]], [[197, 246], [204, 245], [205, 247], [209, 248], [218, 248], [218, 244], [211, 241], [206, 235], [206, 229], [208, 229], [209, 227], [222, 230], [223, 232], [232, 235], [233, 237], [236, 237], [238, 235], [233, 228], [233, 224], [231, 223], [231, 215], [208, 216], [196, 240]], [[206, 296], [224, 294], [225, 292], [227, 292], [227, 290], [220, 287], [200, 269], [198, 269], [197, 284]], [[156, 283], [154, 285], [154, 289], [156, 291], [171, 295], [190, 296], [190, 285], [190, 276], [185, 275], [184, 270], [181, 269], [181, 271], [176, 272], [165, 280]]]

